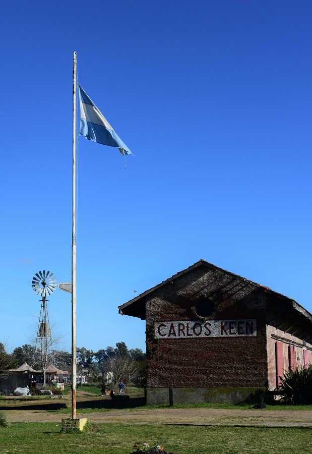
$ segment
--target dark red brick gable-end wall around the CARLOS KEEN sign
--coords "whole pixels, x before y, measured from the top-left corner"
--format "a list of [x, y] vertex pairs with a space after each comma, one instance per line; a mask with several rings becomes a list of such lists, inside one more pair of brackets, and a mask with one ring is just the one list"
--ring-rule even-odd
[[[209, 320], [257, 320], [257, 336], [154, 339], [154, 323], [196, 321], [199, 299], [215, 303]], [[264, 290], [220, 270], [198, 267], [166, 283], [146, 303], [148, 387], [267, 385]]]

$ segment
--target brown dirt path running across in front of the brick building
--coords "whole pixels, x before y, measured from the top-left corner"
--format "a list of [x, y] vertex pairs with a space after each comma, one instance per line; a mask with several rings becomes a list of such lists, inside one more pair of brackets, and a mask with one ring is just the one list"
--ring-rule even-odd
[[[110, 400], [94, 394], [80, 391], [77, 401]], [[5, 410], [11, 422], [59, 422], [62, 418], [71, 418], [71, 414], [59, 414], [53, 410], [71, 405], [71, 395], [53, 400], [25, 400], [8, 396], [0, 400], [0, 410]], [[84, 413], [78, 411], [78, 418], [86, 417], [90, 422], [111, 422], [124, 424], [183, 424], [207, 426], [260, 426], [260, 427], [311, 427], [312, 406], [306, 410], [267, 409], [210, 409], [210, 408], [166, 408], [166, 409], [112, 409], [106, 412]]]

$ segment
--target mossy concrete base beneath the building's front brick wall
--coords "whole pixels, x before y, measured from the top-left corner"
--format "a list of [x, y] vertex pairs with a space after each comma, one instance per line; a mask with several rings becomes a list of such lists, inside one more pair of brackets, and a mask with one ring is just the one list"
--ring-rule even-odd
[[[265, 388], [172, 388], [173, 404], [239, 404]], [[169, 404], [169, 388], [147, 388], [147, 404]]]

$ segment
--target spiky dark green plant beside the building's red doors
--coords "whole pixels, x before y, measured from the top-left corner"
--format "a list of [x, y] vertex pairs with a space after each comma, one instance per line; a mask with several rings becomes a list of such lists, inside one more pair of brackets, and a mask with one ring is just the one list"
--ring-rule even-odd
[[312, 404], [312, 365], [288, 369], [280, 380], [285, 402], [292, 405]]

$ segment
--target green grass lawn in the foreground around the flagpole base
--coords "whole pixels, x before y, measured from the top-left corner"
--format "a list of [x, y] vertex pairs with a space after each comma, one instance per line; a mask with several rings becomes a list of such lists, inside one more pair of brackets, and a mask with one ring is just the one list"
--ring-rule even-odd
[[14, 423], [0, 429], [6, 454], [130, 454], [133, 444], [155, 442], [167, 452], [276, 453], [312, 452], [312, 429], [96, 424], [92, 432], [61, 433], [59, 423]]

